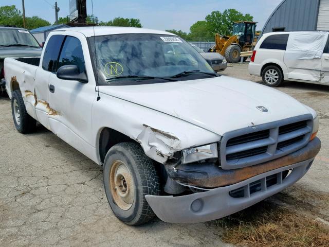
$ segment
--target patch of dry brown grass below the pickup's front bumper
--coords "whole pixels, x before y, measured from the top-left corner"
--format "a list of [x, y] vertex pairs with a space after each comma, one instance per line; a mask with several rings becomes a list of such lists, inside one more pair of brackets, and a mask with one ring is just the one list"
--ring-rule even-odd
[[[283, 194], [284, 195], [284, 194]], [[309, 196], [313, 199], [313, 196]], [[328, 247], [329, 228], [269, 201], [217, 220], [223, 240], [247, 247]]]

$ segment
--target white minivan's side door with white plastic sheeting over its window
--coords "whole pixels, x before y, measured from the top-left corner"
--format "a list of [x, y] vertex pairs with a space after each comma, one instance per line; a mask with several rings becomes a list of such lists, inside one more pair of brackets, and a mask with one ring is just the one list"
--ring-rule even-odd
[[288, 78], [305, 81], [320, 81], [321, 57], [328, 32], [290, 32], [284, 63]]

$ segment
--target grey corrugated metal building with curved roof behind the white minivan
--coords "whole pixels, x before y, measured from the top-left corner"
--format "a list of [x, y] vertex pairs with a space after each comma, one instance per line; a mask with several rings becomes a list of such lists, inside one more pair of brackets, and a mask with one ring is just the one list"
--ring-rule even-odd
[[329, 0], [283, 0], [262, 34], [275, 31], [329, 30]]

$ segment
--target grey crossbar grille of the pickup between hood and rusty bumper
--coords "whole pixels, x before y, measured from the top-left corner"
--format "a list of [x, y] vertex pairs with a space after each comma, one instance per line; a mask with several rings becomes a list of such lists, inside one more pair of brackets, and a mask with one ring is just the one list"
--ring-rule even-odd
[[260, 164], [304, 147], [312, 134], [310, 114], [225, 134], [220, 146], [223, 169]]

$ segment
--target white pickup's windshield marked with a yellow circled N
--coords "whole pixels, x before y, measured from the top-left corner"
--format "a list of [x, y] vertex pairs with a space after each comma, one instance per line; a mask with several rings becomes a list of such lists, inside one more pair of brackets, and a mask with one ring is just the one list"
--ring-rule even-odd
[[96, 45], [99, 84], [115, 82], [117, 85], [126, 80], [155, 83], [159, 79], [161, 82], [172, 81], [165, 78], [173, 77], [175, 80], [192, 80], [216, 76], [206, 60], [176, 36], [114, 34], [95, 37], [95, 43], [94, 37], [89, 38], [89, 44], [92, 51]]

